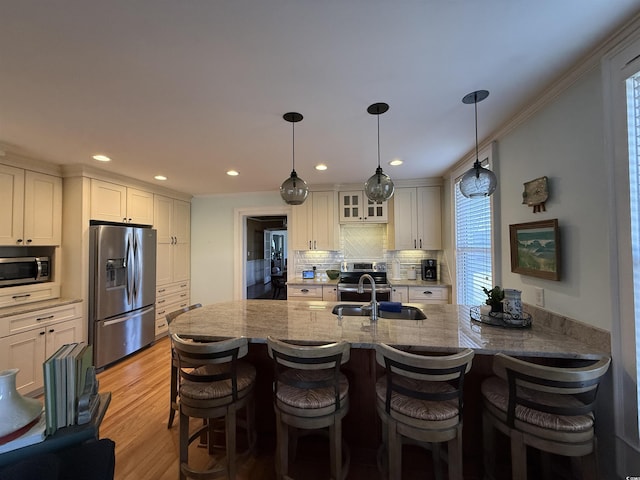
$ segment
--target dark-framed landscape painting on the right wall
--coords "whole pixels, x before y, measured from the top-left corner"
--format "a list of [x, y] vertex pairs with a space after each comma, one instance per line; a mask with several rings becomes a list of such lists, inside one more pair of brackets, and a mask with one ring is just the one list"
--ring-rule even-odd
[[511, 271], [560, 280], [558, 219], [509, 225]]

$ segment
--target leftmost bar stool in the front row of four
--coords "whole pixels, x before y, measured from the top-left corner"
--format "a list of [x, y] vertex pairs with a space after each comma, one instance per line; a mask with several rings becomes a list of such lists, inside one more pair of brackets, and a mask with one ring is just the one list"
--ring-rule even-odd
[[[220, 341], [191, 341], [172, 335], [180, 378], [180, 480], [186, 478], [210, 479], [236, 478], [236, 429], [244, 427], [247, 433], [248, 452], [256, 443], [254, 385], [256, 369], [239, 360], [248, 351], [246, 338]], [[245, 409], [244, 422], [237, 419], [237, 412]], [[190, 432], [190, 418], [206, 422]], [[208, 434], [210, 453], [213, 448], [215, 420], [224, 419], [226, 458], [224, 465], [211, 462], [203, 470], [189, 465], [189, 445]]]

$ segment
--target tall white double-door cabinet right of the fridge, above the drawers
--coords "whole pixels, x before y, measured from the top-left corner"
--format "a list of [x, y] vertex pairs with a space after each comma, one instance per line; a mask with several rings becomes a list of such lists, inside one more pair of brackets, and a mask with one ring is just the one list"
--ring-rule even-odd
[[156, 285], [184, 282], [191, 276], [191, 205], [162, 195], [154, 198], [157, 230]]

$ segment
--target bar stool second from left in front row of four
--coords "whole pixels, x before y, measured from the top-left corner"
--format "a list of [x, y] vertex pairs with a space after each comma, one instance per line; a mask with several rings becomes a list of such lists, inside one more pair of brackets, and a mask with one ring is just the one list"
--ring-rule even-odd
[[276, 477], [290, 478], [291, 429], [328, 427], [331, 478], [343, 480], [349, 471], [348, 452], [344, 464], [342, 455], [342, 419], [349, 411], [349, 381], [340, 366], [349, 361], [349, 343], [293, 345], [272, 337], [267, 343], [275, 370]]

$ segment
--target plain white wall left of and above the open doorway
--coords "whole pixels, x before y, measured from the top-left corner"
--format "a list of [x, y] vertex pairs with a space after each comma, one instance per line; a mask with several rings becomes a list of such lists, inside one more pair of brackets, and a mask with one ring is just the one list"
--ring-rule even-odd
[[284, 205], [280, 193], [196, 197], [191, 201], [191, 302], [233, 300], [234, 209]]

